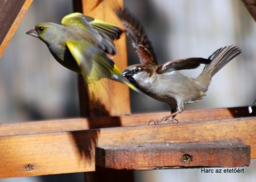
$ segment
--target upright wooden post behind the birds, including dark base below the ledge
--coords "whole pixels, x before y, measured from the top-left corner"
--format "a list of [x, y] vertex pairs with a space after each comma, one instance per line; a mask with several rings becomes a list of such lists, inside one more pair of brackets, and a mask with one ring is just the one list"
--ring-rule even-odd
[[[123, 0], [118, 0], [116, 3], [123, 6]], [[113, 2], [111, 1], [73, 0], [73, 7], [74, 12], [79, 11], [95, 19], [121, 26], [121, 23], [113, 12]], [[121, 36], [121, 38], [115, 42], [115, 45], [117, 55], [114, 57], [113, 61], [120, 70], [124, 70], [127, 66], [125, 36]], [[110, 90], [107, 95], [101, 95], [95, 99], [90, 96], [90, 86], [85, 85], [82, 76], [78, 76], [81, 116], [98, 117], [102, 115], [130, 114], [128, 87], [106, 79], [102, 79], [100, 82], [105, 85], [110, 85]], [[105, 82], [107, 82], [107, 84]], [[90, 125], [93, 126], [93, 123]], [[121, 123], [119, 123], [119, 126], [121, 126]], [[95, 172], [85, 173], [85, 181], [134, 181], [134, 175], [133, 171], [129, 170], [100, 170], [96, 168]]]

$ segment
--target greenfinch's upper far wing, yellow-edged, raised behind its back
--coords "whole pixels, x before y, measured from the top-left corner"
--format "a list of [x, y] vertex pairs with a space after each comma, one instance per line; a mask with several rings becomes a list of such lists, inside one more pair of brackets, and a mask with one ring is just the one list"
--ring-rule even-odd
[[85, 16], [82, 13], [71, 13], [61, 20], [61, 24], [69, 27], [76, 27], [82, 29], [83, 37], [98, 47], [105, 53], [116, 54], [116, 47], [113, 43], [114, 39], [118, 39], [122, 34], [122, 30], [109, 23], [93, 19]]

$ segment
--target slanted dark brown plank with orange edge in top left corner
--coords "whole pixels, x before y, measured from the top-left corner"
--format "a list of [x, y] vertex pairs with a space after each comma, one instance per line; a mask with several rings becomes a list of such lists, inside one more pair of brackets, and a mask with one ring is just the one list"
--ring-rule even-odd
[[0, 2], [0, 57], [32, 2], [33, 0], [8, 0]]

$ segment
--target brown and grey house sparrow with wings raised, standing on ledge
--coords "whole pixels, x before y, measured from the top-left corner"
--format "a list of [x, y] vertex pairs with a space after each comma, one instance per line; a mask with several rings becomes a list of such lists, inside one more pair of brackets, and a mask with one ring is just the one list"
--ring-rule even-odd
[[[239, 47], [231, 45], [218, 49], [208, 59], [191, 57], [157, 65], [153, 48], [138, 20], [127, 10], [116, 9], [115, 13], [131, 38], [140, 60], [140, 64], [127, 67], [123, 76], [141, 92], [167, 103], [171, 109], [170, 115], [150, 120], [149, 123], [174, 121], [174, 117], [184, 110], [185, 104], [202, 100], [215, 73], [241, 53]], [[200, 64], [205, 64], [205, 67], [197, 78], [189, 78], [178, 72], [197, 68]]]

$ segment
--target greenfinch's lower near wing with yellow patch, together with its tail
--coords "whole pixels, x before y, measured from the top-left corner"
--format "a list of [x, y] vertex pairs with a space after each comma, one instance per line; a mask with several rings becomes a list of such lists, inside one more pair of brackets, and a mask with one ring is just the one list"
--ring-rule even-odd
[[81, 69], [84, 79], [89, 84], [101, 78], [108, 78], [122, 82], [139, 92], [135, 86], [123, 77], [114, 61], [97, 46], [93, 46], [89, 42], [72, 40], [67, 42], [67, 47]]

